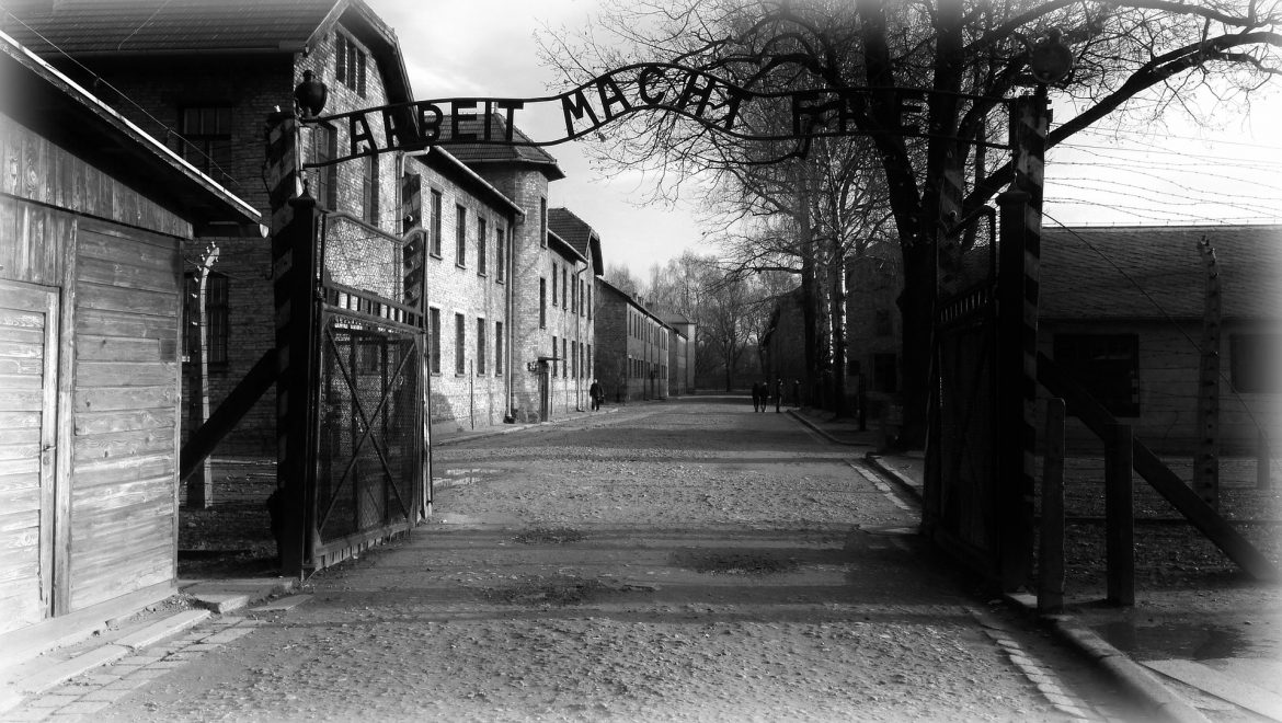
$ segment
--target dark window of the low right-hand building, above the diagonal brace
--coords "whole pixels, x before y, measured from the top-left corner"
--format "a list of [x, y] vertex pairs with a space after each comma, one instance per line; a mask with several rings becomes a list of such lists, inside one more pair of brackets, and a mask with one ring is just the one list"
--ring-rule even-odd
[[1140, 415], [1140, 336], [1058, 333], [1055, 364], [1117, 417]]

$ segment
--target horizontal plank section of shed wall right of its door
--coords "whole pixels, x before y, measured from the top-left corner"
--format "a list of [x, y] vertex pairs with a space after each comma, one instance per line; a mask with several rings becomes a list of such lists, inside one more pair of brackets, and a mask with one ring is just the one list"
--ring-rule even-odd
[[106, 223], [81, 224], [73, 609], [176, 574], [181, 279], [177, 240]]

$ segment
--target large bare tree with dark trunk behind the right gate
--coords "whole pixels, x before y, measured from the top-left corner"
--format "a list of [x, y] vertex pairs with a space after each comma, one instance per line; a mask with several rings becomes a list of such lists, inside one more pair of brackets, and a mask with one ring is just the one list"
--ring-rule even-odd
[[[904, 437], [914, 444], [924, 436], [940, 238], [951, 220], [945, 179], [968, 179], [965, 214], [1014, 178], [1009, 162], [977, 165], [976, 149], [1006, 99], [1029, 82], [1033, 42], [1063, 31], [1077, 58], [1058, 90], [1076, 113], [1050, 132], [1051, 147], [1106, 118], [1160, 115], [1199, 87], [1222, 103], [1245, 97], [1279, 73], [1279, 21], [1277, 0], [617, 0], [596, 28], [608, 41], [554, 40], [547, 58], [574, 79], [624, 62], [663, 60], [749, 90], [870, 88], [846, 117], [870, 138], [899, 237]], [[558, 62], [568, 58], [574, 60]], [[901, 132], [904, 87], [926, 91], [917, 133]], [[797, 155], [715, 136], [678, 114], [636, 114], [595, 153], [658, 173], [660, 194], [679, 192], [691, 177], [724, 181], [770, 160], [786, 168]], [[787, 170], [777, 178], [786, 182]]]

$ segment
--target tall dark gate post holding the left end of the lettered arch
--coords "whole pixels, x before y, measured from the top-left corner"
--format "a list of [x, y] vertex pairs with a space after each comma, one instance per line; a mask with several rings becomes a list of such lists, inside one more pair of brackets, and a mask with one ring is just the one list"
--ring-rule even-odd
[[272, 278], [276, 299], [277, 490], [268, 500], [281, 572], [301, 576], [314, 469], [309, 463], [315, 395], [317, 304], [314, 299], [317, 212], [303, 195], [299, 122], [287, 113], [267, 120], [267, 183], [272, 209]]

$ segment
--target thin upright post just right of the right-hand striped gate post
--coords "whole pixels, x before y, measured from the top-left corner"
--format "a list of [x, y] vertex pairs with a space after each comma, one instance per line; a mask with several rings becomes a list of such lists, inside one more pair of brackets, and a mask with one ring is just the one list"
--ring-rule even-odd
[[1046, 400], [1041, 545], [1037, 547], [1037, 611], [1064, 608], [1064, 400]]

